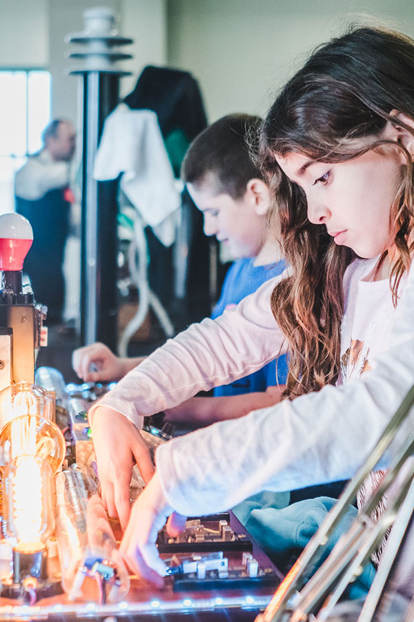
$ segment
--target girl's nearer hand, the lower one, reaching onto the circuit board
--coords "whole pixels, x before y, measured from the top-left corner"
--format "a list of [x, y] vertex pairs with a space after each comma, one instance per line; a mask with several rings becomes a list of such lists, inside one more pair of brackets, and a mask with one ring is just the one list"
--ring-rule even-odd
[[159, 557], [155, 542], [168, 516], [168, 534], [177, 536], [184, 529], [186, 517], [173, 513], [159, 475], [155, 473], [132, 506], [120, 550], [130, 569], [156, 585], [162, 583], [160, 576], [165, 576], [167, 567]]

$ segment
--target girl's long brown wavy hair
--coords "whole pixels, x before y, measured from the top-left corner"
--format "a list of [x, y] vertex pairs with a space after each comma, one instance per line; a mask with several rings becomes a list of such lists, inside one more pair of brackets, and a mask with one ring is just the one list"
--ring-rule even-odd
[[411, 264], [408, 234], [414, 201], [410, 154], [399, 143], [380, 140], [388, 121], [413, 133], [395, 111], [414, 118], [414, 41], [397, 32], [354, 26], [313, 53], [284, 86], [262, 124], [258, 158], [273, 191], [291, 267], [271, 300], [288, 342], [287, 397], [337, 380], [342, 279], [355, 254], [335, 245], [325, 227], [308, 221], [304, 192], [279, 169], [275, 156], [302, 153], [321, 162], [343, 162], [384, 144], [398, 144], [406, 164], [390, 213], [399, 252], [391, 271], [396, 304], [402, 274]]

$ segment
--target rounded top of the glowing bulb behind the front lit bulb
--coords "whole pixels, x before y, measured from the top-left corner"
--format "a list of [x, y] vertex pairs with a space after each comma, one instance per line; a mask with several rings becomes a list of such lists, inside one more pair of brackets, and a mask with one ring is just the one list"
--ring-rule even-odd
[[28, 382], [10, 384], [0, 391], [0, 430], [23, 415], [53, 419], [53, 398], [43, 387]]

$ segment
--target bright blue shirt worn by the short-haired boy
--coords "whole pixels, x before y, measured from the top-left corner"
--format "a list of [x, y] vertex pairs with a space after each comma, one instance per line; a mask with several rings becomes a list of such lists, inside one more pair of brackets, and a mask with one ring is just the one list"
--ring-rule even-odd
[[[230, 266], [224, 279], [220, 299], [211, 314], [213, 319], [221, 315], [225, 309], [237, 305], [248, 294], [253, 294], [268, 279], [282, 274], [286, 267], [284, 260], [269, 265], [253, 265], [253, 261], [250, 258], [238, 259]], [[240, 395], [265, 391], [268, 386], [285, 384], [287, 375], [286, 355], [282, 355], [249, 376], [239, 378], [230, 384], [217, 386], [214, 395]]]

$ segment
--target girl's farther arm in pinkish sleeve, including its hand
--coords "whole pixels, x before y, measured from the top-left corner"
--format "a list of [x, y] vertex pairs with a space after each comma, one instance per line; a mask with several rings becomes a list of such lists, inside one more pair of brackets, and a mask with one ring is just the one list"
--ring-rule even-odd
[[115, 511], [125, 516], [132, 455], [137, 460], [134, 428], [121, 423], [122, 417], [139, 434], [143, 415], [181, 404], [199, 390], [244, 377], [274, 359], [284, 342], [270, 310], [274, 285], [275, 280], [268, 281], [236, 310], [170, 339], [92, 406], [99, 478], [111, 516]]

